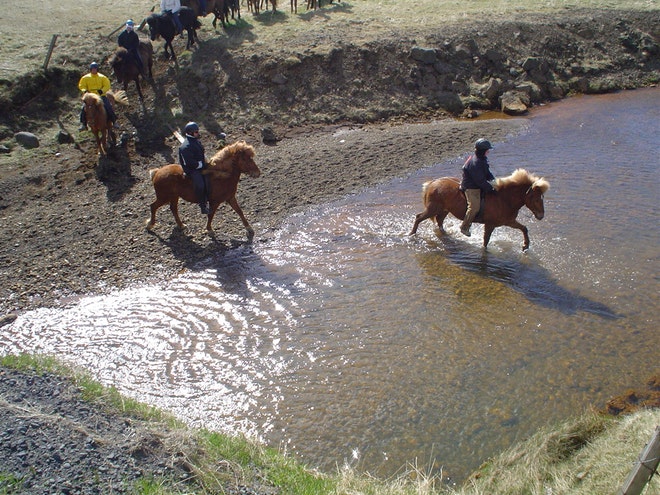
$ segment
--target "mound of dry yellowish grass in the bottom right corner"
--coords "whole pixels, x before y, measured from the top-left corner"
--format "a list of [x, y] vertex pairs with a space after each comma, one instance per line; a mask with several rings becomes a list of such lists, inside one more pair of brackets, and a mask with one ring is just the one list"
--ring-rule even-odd
[[[660, 424], [660, 409], [612, 419], [585, 414], [544, 429], [484, 464], [460, 495], [615, 493]], [[645, 495], [660, 493], [655, 477]]]

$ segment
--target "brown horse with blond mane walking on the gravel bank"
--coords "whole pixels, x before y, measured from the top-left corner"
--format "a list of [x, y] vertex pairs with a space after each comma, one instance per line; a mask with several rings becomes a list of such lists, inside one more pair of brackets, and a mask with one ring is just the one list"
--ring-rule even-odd
[[[209, 183], [209, 206], [211, 213], [208, 215], [206, 230], [212, 232], [211, 222], [220, 204], [228, 203], [238, 216], [241, 217], [243, 225], [247, 229], [248, 236], [254, 235], [243, 210], [236, 200], [238, 180], [242, 173], [257, 178], [261, 171], [254, 162], [254, 148], [245, 141], [238, 141], [221, 149], [209, 160], [208, 168], [204, 171]], [[170, 210], [174, 215], [179, 228], [186, 226], [179, 218], [179, 198], [190, 203], [197, 203], [197, 197], [193, 190], [192, 179], [183, 174], [180, 165], [172, 164], [149, 170], [151, 181], [156, 191], [156, 201], [151, 203], [151, 217], [147, 220], [147, 229], [151, 230], [156, 223], [156, 211], [164, 204], [170, 204]]]

